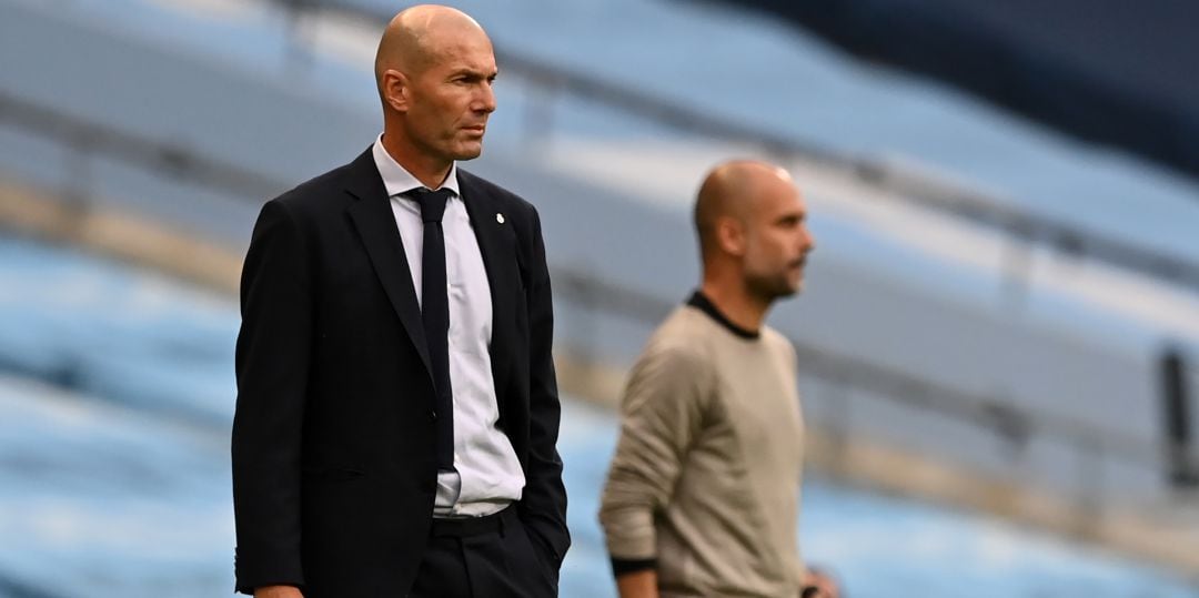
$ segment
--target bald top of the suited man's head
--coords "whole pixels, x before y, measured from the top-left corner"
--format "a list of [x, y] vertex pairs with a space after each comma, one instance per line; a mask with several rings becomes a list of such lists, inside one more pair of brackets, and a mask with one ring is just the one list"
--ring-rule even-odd
[[387, 24], [375, 53], [375, 85], [380, 97], [388, 70], [417, 75], [434, 65], [453, 40], [480, 38], [490, 46], [483, 28], [457, 8], [426, 4], [402, 11]]

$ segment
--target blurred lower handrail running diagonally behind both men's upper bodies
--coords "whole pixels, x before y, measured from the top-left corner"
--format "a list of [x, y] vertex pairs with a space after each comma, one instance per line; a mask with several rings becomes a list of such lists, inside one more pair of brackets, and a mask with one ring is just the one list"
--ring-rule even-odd
[[[0, 122], [10, 121], [35, 134], [52, 138], [86, 155], [102, 155], [149, 173], [188, 181], [261, 200], [288, 187], [254, 170], [224, 163], [173, 143], [38, 107], [0, 92]], [[588, 272], [554, 267], [556, 292], [591, 310], [617, 314], [635, 321], [655, 324], [675, 306], [674, 302], [602, 280]], [[837, 355], [797, 338], [791, 338], [802, 369], [817, 377], [876, 393], [887, 400], [930, 410], [957, 421], [974, 423], [1012, 442], [1023, 443], [1034, 435], [1058, 439], [1079, 447], [1101, 447], [1107, 454], [1128, 463], [1161, 467], [1163, 459], [1179, 455], [1179, 446], [1157, 445], [1113, 430], [1103, 430], [1048, 412], [1013, 406], [995, 397], [951, 388], [932, 380]], [[1199, 463], [1193, 454], [1189, 463]]]

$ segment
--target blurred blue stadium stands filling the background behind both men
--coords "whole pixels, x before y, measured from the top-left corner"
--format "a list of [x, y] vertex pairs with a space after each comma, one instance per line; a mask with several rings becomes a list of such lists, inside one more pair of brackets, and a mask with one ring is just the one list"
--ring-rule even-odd
[[[801, 543], [852, 598], [1199, 596], [1199, 6], [469, 0], [537, 205], [564, 597], [716, 162], [803, 188]], [[0, 0], [0, 596], [233, 588], [237, 276], [381, 128], [384, 0]]]

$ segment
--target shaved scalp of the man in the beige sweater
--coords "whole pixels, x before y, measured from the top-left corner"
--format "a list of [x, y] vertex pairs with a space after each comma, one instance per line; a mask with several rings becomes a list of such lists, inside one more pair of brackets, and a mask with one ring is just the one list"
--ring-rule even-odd
[[778, 185], [793, 187], [795, 183], [787, 170], [752, 159], [724, 162], [707, 174], [695, 200], [695, 231], [705, 260], [717, 248], [719, 219], [735, 218], [745, 223], [755, 200], [764, 195], [764, 187]]

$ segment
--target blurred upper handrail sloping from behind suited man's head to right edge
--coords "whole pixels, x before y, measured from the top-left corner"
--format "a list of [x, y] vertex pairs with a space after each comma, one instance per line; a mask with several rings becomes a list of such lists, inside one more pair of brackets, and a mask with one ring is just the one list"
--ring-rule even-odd
[[[333, 10], [372, 22], [386, 23], [390, 10], [364, 6], [355, 0], [276, 0], [296, 11]], [[1090, 256], [1158, 280], [1199, 291], [1199, 262], [1145, 246], [1122, 241], [1081, 226], [1013, 207], [982, 193], [948, 186], [902, 167], [860, 156], [835, 152], [814, 144], [722, 119], [635, 87], [607, 81], [548, 61], [504, 49], [496, 59], [506, 73], [531, 84], [602, 104], [677, 131], [763, 149], [781, 159], [802, 159], [840, 170], [887, 192], [888, 199], [936, 210], [975, 225], [1006, 234], [1013, 240], [1040, 243], [1068, 255]]]

